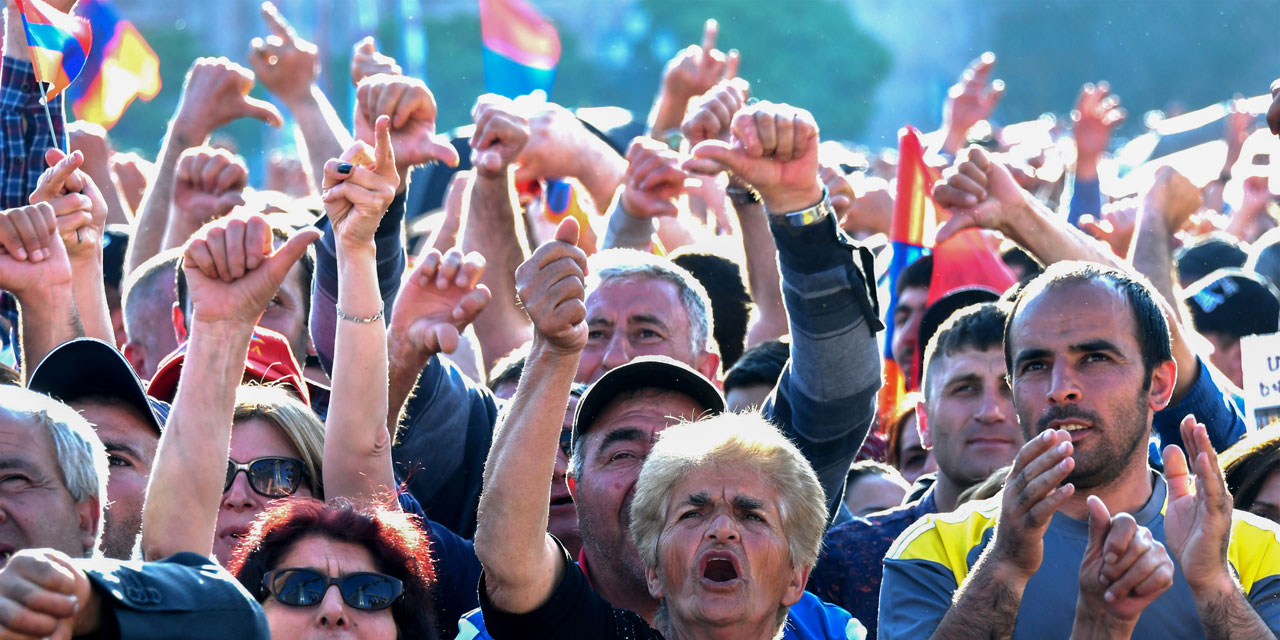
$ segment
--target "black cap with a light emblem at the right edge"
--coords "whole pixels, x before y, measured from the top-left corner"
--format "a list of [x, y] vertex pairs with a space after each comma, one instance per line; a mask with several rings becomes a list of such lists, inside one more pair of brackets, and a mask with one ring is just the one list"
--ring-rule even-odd
[[1280, 296], [1261, 275], [1219, 269], [1183, 294], [1197, 332], [1242, 338], [1280, 330]]

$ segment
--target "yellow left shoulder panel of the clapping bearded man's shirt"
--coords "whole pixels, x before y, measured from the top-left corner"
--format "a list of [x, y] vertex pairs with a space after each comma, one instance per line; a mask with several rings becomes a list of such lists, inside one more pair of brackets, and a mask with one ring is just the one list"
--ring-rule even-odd
[[998, 513], [1000, 499], [991, 498], [924, 515], [893, 540], [886, 559], [936, 562], [956, 572], [959, 584], [968, 573], [969, 552], [983, 544]]

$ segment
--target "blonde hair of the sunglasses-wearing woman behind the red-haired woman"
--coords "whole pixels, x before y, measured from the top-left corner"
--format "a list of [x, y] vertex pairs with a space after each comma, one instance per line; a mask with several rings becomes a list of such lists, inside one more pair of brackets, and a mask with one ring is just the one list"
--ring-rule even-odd
[[284, 387], [269, 384], [242, 384], [236, 389], [236, 411], [232, 424], [260, 419], [275, 425], [307, 466], [311, 476], [311, 495], [324, 499], [324, 422], [293, 393]]

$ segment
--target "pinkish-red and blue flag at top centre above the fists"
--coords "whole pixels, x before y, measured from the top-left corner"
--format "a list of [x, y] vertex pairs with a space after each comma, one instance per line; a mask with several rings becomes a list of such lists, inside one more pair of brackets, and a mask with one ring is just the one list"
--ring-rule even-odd
[[480, 0], [485, 90], [507, 97], [550, 95], [559, 61], [556, 27], [525, 0]]

